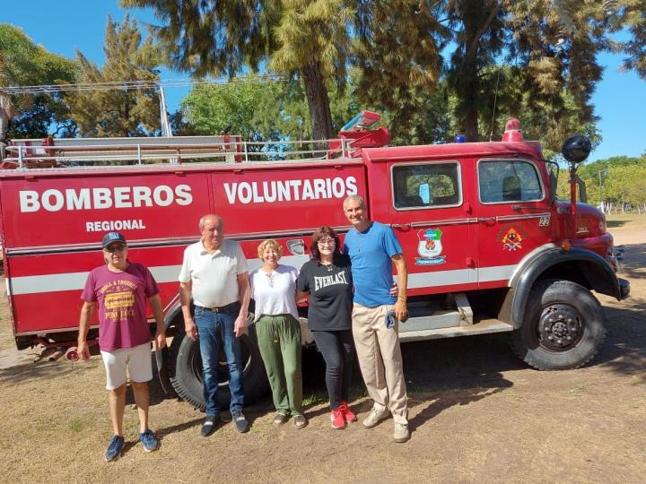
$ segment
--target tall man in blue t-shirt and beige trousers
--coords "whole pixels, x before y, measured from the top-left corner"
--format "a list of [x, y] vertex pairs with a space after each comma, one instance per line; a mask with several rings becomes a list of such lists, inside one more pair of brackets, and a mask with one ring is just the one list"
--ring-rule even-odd
[[[388, 417], [389, 409], [395, 421], [395, 442], [406, 442], [410, 436], [408, 405], [398, 335], [398, 322], [408, 317], [406, 261], [392, 229], [367, 218], [361, 196], [348, 196], [344, 212], [353, 225], [345, 236], [344, 252], [352, 261], [354, 345], [363, 381], [374, 401], [363, 426], [375, 427]], [[390, 294], [392, 264], [397, 269], [397, 298]], [[385, 323], [390, 309], [397, 318], [392, 327]]]

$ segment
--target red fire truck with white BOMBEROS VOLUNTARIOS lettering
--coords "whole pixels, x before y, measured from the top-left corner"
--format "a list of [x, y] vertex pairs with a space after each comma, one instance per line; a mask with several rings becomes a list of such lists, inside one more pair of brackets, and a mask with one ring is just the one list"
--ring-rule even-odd
[[[157, 354], [162, 386], [204, 408], [199, 350], [184, 333], [177, 281], [199, 217], [222, 215], [252, 269], [265, 238], [284, 246], [282, 263], [300, 267], [312, 229], [347, 232], [342, 201], [361, 194], [371, 219], [389, 224], [404, 248], [410, 318], [401, 341], [508, 332], [532, 367], [588, 362], [604, 338], [592, 291], [623, 299], [629, 285], [615, 275], [603, 213], [574, 201], [586, 140], [565, 147], [572, 200], [564, 202], [555, 197], [558, 165], [542, 158], [539, 143], [522, 140], [518, 124], [502, 142], [396, 147], [385, 127], [367, 129], [374, 120], [364, 113], [338, 139], [306, 142], [307, 150], [236, 136], [11, 143], [0, 170], [0, 222], [17, 347], [74, 345], [100, 238], [118, 230], [130, 258], [160, 284], [173, 337]], [[311, 343], [307, 331], [303, 339]], [[253, 400], [266, 391], [253, 326], [243, 348]]]

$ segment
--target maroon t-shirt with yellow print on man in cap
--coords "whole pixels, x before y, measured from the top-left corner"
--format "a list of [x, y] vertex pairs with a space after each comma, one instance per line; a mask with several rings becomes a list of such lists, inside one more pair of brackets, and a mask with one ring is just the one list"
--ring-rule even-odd
[[159, 292], [153, 274], [130, 263], [123, 272], [106, 265], [90, 272], [81, 298], [99, 303], [99, 347], [104, 351], [134, 348], [151, 341], [146, 299]]

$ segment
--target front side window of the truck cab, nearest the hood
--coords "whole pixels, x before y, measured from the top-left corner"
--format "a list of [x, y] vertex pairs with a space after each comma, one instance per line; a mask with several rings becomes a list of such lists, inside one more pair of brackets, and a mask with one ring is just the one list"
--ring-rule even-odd
[[478, 183], [483, 203], [533, 202], [543, 198], [537, 169], [528, 161], [480, 161]]

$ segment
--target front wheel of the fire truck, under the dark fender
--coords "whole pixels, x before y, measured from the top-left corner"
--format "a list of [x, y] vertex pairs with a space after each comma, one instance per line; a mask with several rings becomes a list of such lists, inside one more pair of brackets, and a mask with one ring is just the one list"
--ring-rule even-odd
[[511, 347], [540, 370], [582, 367], [606, 336], [605, 315], [597, 298], [572, 281], [538, 281], [529, 293], [525, 319]]

